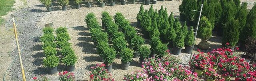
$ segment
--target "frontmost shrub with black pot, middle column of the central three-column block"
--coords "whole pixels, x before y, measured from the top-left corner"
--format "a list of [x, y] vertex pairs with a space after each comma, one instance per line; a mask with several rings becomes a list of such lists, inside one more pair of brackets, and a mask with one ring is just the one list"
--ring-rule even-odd
[[122, 69], [127, 70], [130, 66], [130, 62], [132, 61], [133, 51], [129, 48], [123, 48], [120, 54], [122, 57]]

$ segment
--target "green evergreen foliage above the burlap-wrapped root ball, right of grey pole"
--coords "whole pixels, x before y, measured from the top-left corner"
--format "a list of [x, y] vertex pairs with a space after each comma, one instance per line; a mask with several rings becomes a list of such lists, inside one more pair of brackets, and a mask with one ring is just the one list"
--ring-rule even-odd
[[199, 23], [198, 36], [202, 40], [208, 40], [212, 37], [212, 24], [206, 17], [202, 17]]

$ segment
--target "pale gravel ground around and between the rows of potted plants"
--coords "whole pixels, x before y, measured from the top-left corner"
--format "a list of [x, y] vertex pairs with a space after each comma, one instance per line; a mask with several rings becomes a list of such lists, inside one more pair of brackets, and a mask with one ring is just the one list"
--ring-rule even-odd
[[[160, 9], [161, 5], [167, 8], [168, 13], [177, 12], [178, 6], [181, 4], [181, 0], [177, 1], [158, 1], [157, 4], [154, 5], [154, 8]], [[255, 2], [254, 0], [242, 0], [241, 2]], [[131, 25], [136, 26], [136, 14], [139, 11], [140, 4], [126, 4], [120, 5], [120, 3], [116, 4], [114, 7], [105, 6], [104, 8], [92, 7], [85, 8], [84, 5], [80, 9], [72, 9], [72, 6], [68, 6], [67, 11], [61, 11], [60, 6], [54, 6], [52, 12], [46, 12], [46, 8], [43, 4], [38, 2], [38, 0], [28, 0], [27, 7], [22, 8], [14, 12], [16, 16], [16, 24], [18, 24], [18, 32], [19, 32], [19, 42], [21, 48], [23, 48], [24, 43], [26, 42], [26, 47], [21, 52], [22, 53], [22, 61], [25, 69], [26, 79], [28, 81], [32, 80], [32, 77], [39, 76], [41, 74], [46, 75], [53, 81], [58, 79], [58, 74], [48, 75], [45, 72], [45, 68], [42, 66], [43, 53], [41, 50], [41, 43], [39, 38], [36, 37], [42, 34], [42, 28], [44, 24], [53, 23], [53, 27], [56, 29], [57, 27], [74, 27], [68, 29], [70, 34], [72, 43], [72, 47], [75, 50], [76, 55], [78, 56], [78, 61], [75, 65], [76, 69], [74, 71], [76, 80], [89, 80], [89, 68], [98, 62], [99, 58], [96, 54], [95, 45], [92, 42], [90, 37], [90, 33], [88, 28], [85, 26], [84, 17], [87, 13], [94, 12], [98, 21], [101, 22], [100, 17], [102, 11], [108, 11], [111, 15], [114, 15], [116, 12], [121, 12], [124, 16], [130, 20]], [[249, 5], [251, 8], [251, 5]], [[144, 5], [144, 9], [149, 9], [150, 5]], [[179, 16], [179, 13], [174, 14], [175, 17]], [[7, 29], [12, 28], [11, 18], [8, 17], [6, 19], [5, 27]], [[139, 29], [138, 29], [139, 30]], [[140, 33], [140, 31], [138, 32]], [[33, 39], [30, 39], [35, 37]], [[208, 41], [211, 45], [211, 49], [219, 48], [221, 37], [216, 36]], [[149, 40], [146, 40], [148, 42]], [[196, 44], [200, 42], [200, 39], [196, 39]], [[197, 48], [195, 47], [194, 50]], [[210, 51], [210, 50], [207, 50]], [[17, 56], [16, 49], [11, 52], [12, 58]], [[195, 51], [194, 51], [195, 52]], [[182, 54], [175, 56], [180, 58], [181, 64], [188, 64], [188, 60], [190, 54], [184, 53], [184, 48], [182, 50]], [[134, 58], [132, 63], [130, 64], [130, 68], [128, 70], [122, 70], [121, 60], [115, 59], [113, 64], [113, 72], [112, 75], [116, 81], [122, 81], [124, 75], [131, 73], [135, 70], [140, 70], [142, 68], [139, 67], [139, 60]], [[63, 71], [63, 64], [59, 65], [58, 71]], [[14, 63], [12, 68], [9, 69], [8, 72], [10, 75], [10, 79], [6, 79], [6, 81], [21, 81], [21, 71], [18, 60]]]

